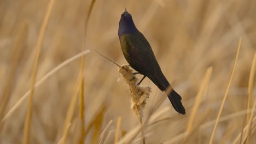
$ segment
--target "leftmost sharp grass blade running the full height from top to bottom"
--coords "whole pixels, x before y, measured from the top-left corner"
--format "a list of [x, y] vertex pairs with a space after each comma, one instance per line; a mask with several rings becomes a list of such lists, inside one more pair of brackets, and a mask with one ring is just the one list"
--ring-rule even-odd
[[51, 9], [53, 8], [53, 4], [54, 4], [54, 0], [50, 0], [44, 15], [44, 20], [42, 23], [42, 27], [40, 28], [39, 37], [37, 40], [36, 53], [34, 57], [32, 76], [31, 76], [31, 92], [28, 100], [27, 115], [26, 115], [25, 126], [24, 126], [23, 143], [30, 142], [30, 124], [31, 124], [31, 113], [32, 113], [32, 105], [33, 105], [34, 83], [36, 82], [36, 77], [37, 77], [37, 67], [38, 67], [40, 49], [42, 46], [42, 41], [43, 41], [46, 26], [49, 20], [49, 16], [51, 13]]

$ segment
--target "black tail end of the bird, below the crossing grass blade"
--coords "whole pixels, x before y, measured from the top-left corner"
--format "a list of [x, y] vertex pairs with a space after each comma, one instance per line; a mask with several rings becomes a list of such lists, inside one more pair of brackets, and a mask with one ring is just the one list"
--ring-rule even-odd
[[167, 95], [168, 95], [168, 98], [170, 99], [170, 101], [172, 103], [173, 108], [178, 113], [181, 113], [182, 115], [185, 115], [186, 111], [185, 111], [184, 106], [181, 103], [181, 100], [182, 100], [181, 96], [178, 93], [176, 93], [174, 91], [174, 89], [172, 89], [171, 93], [167, 94]]

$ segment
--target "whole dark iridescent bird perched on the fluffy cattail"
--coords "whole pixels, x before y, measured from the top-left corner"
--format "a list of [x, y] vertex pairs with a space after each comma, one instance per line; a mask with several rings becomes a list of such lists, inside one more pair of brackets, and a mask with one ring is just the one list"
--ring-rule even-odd
[[[118, 36], [126, 61], [133, 69], [138, 71], [138, 73], [135, 74], [143, 75], [142, 80], [139, 81], [137, 85], [139, 85], [145, 77], [148, 77], [161, 91], [167, 93], [167, 88], [170, 86], [170, 83], [166, 80], [164, 74], [162, 74], [150, 44], [144, 35], [138, 31], [131, 14], [129, 14], [126, 9], [119, 21]], [[181, 96], [172, 89], [168, 94], [168, 98], [174, 109], [178, 113], [185, 115], [186, 112], [181, 103]]]

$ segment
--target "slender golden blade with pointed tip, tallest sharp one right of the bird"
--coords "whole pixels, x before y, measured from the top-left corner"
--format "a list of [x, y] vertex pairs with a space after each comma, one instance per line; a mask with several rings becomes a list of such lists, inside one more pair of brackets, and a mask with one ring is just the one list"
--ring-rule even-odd
[[241, 38], [239, 39], [239, 43], [238, 43], [238, 47], [237, 47], [237, 53], [236, 53], [236, 59], [235, 59], [235, 63], [234, 63], [233, 68], [232, 68], [232, 72], [231, 72], [231, 75], [230, 75], [228, 87], [226, 88], [226, 92], [225, 92], [225, 95], [224, 95], [224, 98], [223, 98], [223, 101], [222, 101], [222, 105], [220, 106], [219, 113], [218, 113], [216, 123], [215, 123], [214, 128], [213, 128], [211, 139], [210, 139], [209, 143], [213, 142], [213, 138], [214, 138], [214, 135], [215, 135], [215, 132], [216, 132], [216, 129], [217, 129], [219, 118], [220, 118], [220, 115], [222, 114], [222, 110], [223, 110], [223, 107], [224, 107], [224, 104], [225, 104], [226, 97], [228, 96], [229, 88], [230, 88], [231, 81], [232, 81], [232, 78], [233, 78], [233, 75], [234, 75], [234, 72], [235, 72], [236, 63], [237, 63], [237, 59], [238, 59], [239, 52], [240, 52], [240, 47], [241, 47]]

